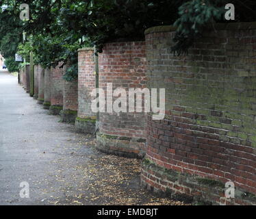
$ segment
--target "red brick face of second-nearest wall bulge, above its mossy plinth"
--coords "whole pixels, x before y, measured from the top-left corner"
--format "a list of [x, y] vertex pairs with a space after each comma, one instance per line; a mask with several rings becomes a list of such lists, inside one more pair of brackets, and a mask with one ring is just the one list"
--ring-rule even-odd
[[[99, 55], [99, 88], [106, 92], [107, 83], [112, 83], [113, 91], [116, 88], [125, 88], [127, 93], [129, 88], [146, 87], [144, 42], [105, 44], [103, 53]], [[146, 136], [144, 113], [100, 113], [99, 128], [101, 133], [109, 135], [133, 138]]]

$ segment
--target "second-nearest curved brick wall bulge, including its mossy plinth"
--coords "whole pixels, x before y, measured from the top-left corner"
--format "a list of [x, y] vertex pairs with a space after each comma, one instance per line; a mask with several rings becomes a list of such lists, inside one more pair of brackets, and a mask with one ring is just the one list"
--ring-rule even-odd
[[[116, 88], [146, 87], [144, 42], [113, 42], [105, 44], [99, 54], [99, 88], [106, 94], [107, 83]], [[113, 101], [115, 98], [113, 98]], [[128, 105], [128, 103], [127, 103]], [[106, 107], [105, 107], [106, 108]], [[128, 107], [127, 107], [128, 109]], [[144, 155], [144, 113], [100, 113], [97, 147], [105, 153], [131, 157]]]

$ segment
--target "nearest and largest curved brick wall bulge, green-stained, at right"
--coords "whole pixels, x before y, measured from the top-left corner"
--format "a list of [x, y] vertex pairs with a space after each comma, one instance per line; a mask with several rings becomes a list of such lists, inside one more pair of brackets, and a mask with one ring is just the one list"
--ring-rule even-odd
[[[256, 23], [205, 30], [187, 57], [172, 27], [146, 30], [149, 88], [166, 88], [166, 116], [148, 114], [142, 184], [212, 204], [256, 204]], [[225, 198], [227, 181], [235, 198]]]

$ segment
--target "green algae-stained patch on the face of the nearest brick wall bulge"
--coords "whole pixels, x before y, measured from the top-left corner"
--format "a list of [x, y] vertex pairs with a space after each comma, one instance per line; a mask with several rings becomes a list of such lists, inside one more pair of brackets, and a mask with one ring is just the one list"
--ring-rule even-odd
[[[177, 64], [182, 65], [182, 63]], [[219, 81], [224, 79], [222, 74], [207, 74], [207, 80], [197, 78], [196, 76], [201, 75], [197, 64], [197, 62], [188, 64], [195, 73], [194, 79], [188, 81], [190, 86], [187, 87], [182, 96], [179, 96], [180, 103], [186, 111], [204, 116], [203, 119], [201, 116], [195, 120], [190, 119], [190, 123], [225, 129], [229, 138], [222, 138], [222, 140], [233, 144], [241, 144], [242, 140], [249, 140], [251, 146], [255, 147], [256, 138], [253, 137], [256, 135], [253, 116], [255, 110], [253, 110], [252, 103], [256, 99], [253, 98], [252, 87], [256, 85], [256, 81], [248, 81], [247, 77], [240, 75], [239, 72], [235, 73], [235, 70], [233, 70], [234, 77], [229, 82], [233, 82], [235, 86], [229, 86], [226, 81], [220, 86]], [[252, 79], [254, 77], [253, 73], [250, 74], [248, 76], [251, 76]], [[172, 91], [172, 96], [175, 95], [177, 95], [177, 90]], [[172, 109], [172, 103], [168, 104], [166, 108]], [[212, 114], [212, 111], [218, 111], [221, 114], [216, 116]], [[180, 116], [180, 114], [180, 112], [172, 110], [172, 115]]]

